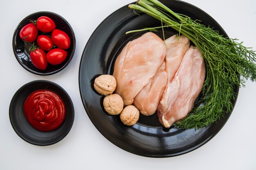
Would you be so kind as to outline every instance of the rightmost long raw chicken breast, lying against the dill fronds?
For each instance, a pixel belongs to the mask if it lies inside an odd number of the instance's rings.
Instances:
[[[173,80],[167,84],[157,108],[161,124],[168,128],[193,108],[204,83],[205,68],[200,50],[191,46]]]

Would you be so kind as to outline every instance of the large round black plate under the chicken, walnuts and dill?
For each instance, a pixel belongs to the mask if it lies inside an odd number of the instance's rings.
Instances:
[[[177,13],[201,20],[203,24],[214,27],[227,37],[225,31],[204,11],[186,2],[162,0]],[[94,79],[100,74],[112,74],[115,59],[128,41],[143,33],[126,35],[126,31],[161,26],[161,22],[138,12],[135,15],[124,6],[108,16],[91,35],[85,46],[79,68],[79,88],[81,99],[90,120],[99,132],[110,142],[130,153],[146,157],[173,157],[188,153],[202,146],[220,131],[230,113],[206,128],[199,130],[166,129],[162,127],[156,114],[140,115],[134,126],[124,126],[119,116],[110,116],[103,109],[103,96],[93,89]],[[161,29],[160,29],[161,30]],[[177,32],[165,29],[165,37]],[[162,32],[157,32],[162,37]],[[238,87],[235,87],[238,93]],[[233,101],[235,105],[236,99]]]

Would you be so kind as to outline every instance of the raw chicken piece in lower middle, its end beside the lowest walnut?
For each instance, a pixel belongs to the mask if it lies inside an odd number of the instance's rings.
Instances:
[[[162,63],[149,83],[135,96],[133,105],[145,116],[152,115],[157,110],[167,83],[165,62]]]

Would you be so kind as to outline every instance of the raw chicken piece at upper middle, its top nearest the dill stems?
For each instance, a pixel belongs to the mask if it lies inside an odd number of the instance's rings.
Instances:
[[[173,35],[165,40],[166,44],[166,57],[165,57],[165,71],[168,75],[168,82],[170,82],[178,68],[180,63],[189,49],[190,41],[184,35],[181,35],[179,40],[176,35]]]

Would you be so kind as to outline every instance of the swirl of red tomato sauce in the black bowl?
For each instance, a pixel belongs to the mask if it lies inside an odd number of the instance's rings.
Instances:
[[[64,122],[66,108],[58,94],[40,89],[32,92],[23,104],[27,121],[38,131],[52,131]]]

